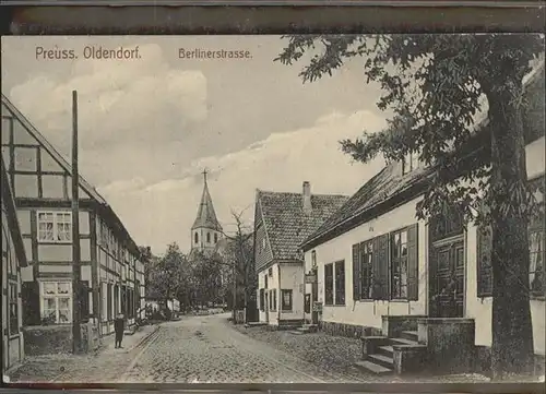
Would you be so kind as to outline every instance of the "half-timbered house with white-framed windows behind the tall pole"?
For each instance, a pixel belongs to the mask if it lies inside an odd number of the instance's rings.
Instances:
[[[72,321],[71,166],[2,95],[2,158],[13,186],[28,266],[22,270],[23,325]],[[82,322],[100,335],[144,306],[144,266],[126,227],[100,194],[79,179]]]

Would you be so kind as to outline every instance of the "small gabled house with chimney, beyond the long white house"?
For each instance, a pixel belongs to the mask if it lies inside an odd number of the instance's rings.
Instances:
[[[304,260],[298,244],[346,200],[344,195],[257,191],[254,263],[259,321],[301,324],[305,319]]]

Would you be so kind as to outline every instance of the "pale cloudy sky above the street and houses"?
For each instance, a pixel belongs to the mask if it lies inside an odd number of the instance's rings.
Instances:
[[[138,244],[188,251],[203,169],[226,231],[253,222],[256,190],[353,194],[384,163],[353,163],[339,141],[381,130],[379,87],[361,59],[304,84],[300,63],[273,59],[280,36],[2,37],[2,93],[66,157],[79,96],[81,175]],[[84,49],[139,48],[139,59],[85,59]],[[43,48],[43,49],[40,49]],[[187,59],[185,50],[248,50]],[[37,52],[73,50],[78,59]]]

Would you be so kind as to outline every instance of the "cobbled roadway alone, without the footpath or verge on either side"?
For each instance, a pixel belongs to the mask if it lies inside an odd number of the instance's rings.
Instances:
[[[135,356],[124,382],[324,382],[314,366],[236,331],[228,314],[163,324]]]

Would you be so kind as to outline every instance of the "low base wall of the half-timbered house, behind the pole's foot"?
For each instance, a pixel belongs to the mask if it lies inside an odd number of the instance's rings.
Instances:
[[[82,351],[98,348],[98,330],[93,324],[82,324]],[[23,329],[25,355],[40,356],[72,353],[72,325],[34,325]]]

